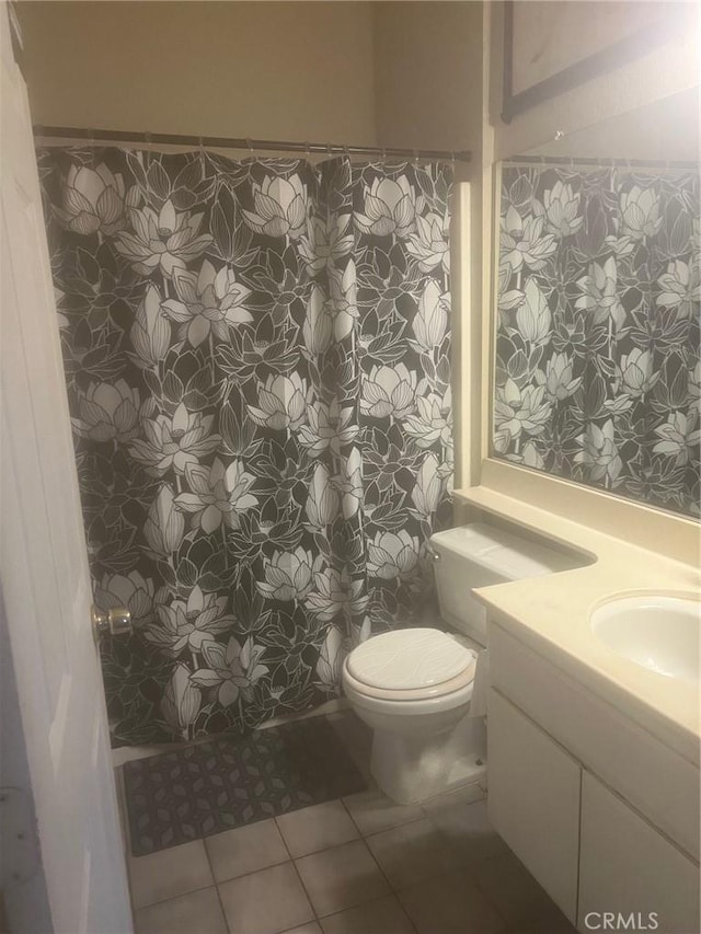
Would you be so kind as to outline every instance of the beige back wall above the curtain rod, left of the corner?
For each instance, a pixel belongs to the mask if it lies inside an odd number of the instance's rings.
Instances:
[[[35,123],[372,145],[372,4],[21,2]]]

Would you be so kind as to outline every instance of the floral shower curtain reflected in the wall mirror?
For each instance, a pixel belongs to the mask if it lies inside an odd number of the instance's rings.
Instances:
[[[498,458],[699,514],[699,168],[502,169]]]

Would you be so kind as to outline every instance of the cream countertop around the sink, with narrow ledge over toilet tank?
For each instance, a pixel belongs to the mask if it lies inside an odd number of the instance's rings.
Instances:
[[[618,655],[594,634],[588,619],[597,606],[617,597],[665,593],[698,600],[699,568],[486,487],[456,491],[456,497],[584,553],[590,563],[582,567],[482,587],[474,596],[516,638],[698,764],[698,687]]]

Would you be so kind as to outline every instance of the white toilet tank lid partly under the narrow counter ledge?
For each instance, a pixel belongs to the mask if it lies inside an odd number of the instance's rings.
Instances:
[[[469,558],[506,580],[541,577],[577,566],[571,554],[482,522],[436,532],[430,538],[430,545],[438,554],[449,553]]]

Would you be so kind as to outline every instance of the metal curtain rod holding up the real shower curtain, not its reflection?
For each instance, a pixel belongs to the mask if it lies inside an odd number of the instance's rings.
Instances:
[[[341,146],[327,142],[292,142],[280,139],[230,139],[217,136],[181,136],[170,132],[131,132],[115,129],[85,129],[84,127],[35,126],[34,135],[47,139],[87,139],[89,142],[146,142],[161,146],[193,146],[209,149],[266,149],[273,152],[322,152],[327,155],[400,155],[405,159],[438,159],[470,162],[472,153],[466,149],[398,149],[390,146]]]

